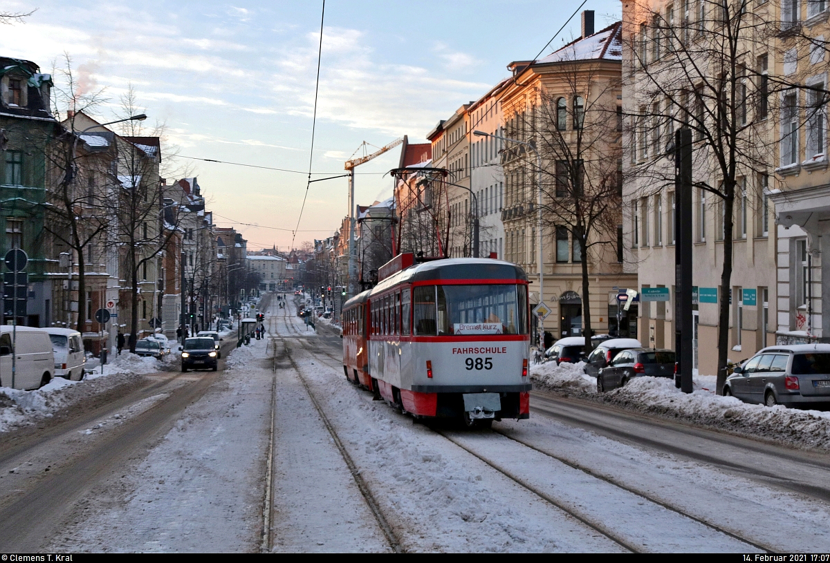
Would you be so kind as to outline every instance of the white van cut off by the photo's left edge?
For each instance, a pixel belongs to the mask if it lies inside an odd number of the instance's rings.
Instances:
[[[37,389],[51,381],[55,354],[43,328],[17,327],[15,338],[15,389]],[[12,327],[0,326],[0,386],[12,386]]]

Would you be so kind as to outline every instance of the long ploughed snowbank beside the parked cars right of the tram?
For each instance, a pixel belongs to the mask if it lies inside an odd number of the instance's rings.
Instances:
[[[648,415],[729,430],[801,449],[830,450],[830,412],[749,405],[735,397],[715,395],[715,376],[695,376],[694,391],[683,393],[665,377],[635,377],[626,386],[597,393],[596,378],[583,364],[553,362],[533,366],[530,377],[541,390],[593,400]]]

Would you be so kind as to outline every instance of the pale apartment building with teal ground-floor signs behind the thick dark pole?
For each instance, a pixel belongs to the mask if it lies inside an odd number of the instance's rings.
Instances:
[[[674,347],[676,198],[666,147],[685,127],[694,143],[693,365],[706,375],[718,369],[721,304],[729,359],[776,341],[769,309],[789,275],[777,268],[770,199],[784,180],[775,165],[781,104],[770,94],[781,60],[777,33],[759,22],[778,25],[781,11],[776,2],[623,2],[625,269],[638,274],[641,293],[662,288],[649,293],[668,299],[640,303],[639,332],[643,344]]]

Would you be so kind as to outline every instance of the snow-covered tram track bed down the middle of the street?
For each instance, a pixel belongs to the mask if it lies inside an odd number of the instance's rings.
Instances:
[[[496,423],[493,431],[415,424],[345,379],[333,328],[307,328],[293,303],[271,303],[266,313],[268,337],[234,350],[207,392],[145,454],[100,476],[43,549],[747,553],[830,546],[828,503],[774,479],[540,415]],[[147,400],[164,406],[167,399]],[[707,447],[705,436],[696,440],[696,448]]]

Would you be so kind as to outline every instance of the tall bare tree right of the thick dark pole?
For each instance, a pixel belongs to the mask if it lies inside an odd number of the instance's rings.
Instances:
[[[753,7],[764,12],[753,12]],[[775,162],[772,148],[777,144],[766,119],[773,96],[763,78],[767,69],[759,68],[762,54],[773,60],[764,14],[775,9],[774,2],[758,8],[749,0],[697,0],[653,11],[647,2],[634,2],[624,14],[623,39],[631,56],[623,66],[631,162],[627,179],[637,184],[640,197],[673,186],[666,145],[675,129],[691,129],[693,187],[716,201],[724,292],[731,287],[736,198],[756,201],[752,194],[763,189],[761,178],[768,177],[769,163]],[[727,375],[730,300],[722,295],[719,307],[720,394]]]

